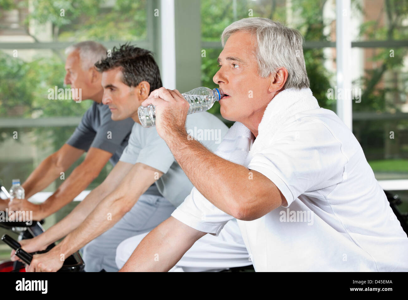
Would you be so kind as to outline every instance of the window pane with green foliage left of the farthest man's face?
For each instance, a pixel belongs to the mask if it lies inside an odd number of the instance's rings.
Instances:
[[[13,51],[17,51],[17,57]],[[69,86],[64,87],[63,50],[16,49],[0,53],[1,117],[82,116],[91,105],[91,101],[76,103]]]

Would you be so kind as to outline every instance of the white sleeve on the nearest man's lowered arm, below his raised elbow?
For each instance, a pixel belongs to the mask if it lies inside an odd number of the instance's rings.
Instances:
[[[180,222],[203,232],[218,236],[224,225],[234,217],[208,201],[195,187],[171,214]]]

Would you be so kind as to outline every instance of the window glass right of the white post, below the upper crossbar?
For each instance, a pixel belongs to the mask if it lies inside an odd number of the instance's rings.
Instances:
[[[353,101],[353,133],[377,179],[406,179],[408,47],[353,49],[361,62],[354,72],[361,100]]]

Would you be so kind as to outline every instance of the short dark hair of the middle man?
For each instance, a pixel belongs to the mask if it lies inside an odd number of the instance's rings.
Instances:
[[[103,72],[121,67],[124,84],[136,87],[140,82],[147,81],[150,84],[150,93],[163,86],[159,67],[151,51],[124,44],[120,45],[120,48],[113,47],[111,54],[111,57],[95,64],[98,71]]]

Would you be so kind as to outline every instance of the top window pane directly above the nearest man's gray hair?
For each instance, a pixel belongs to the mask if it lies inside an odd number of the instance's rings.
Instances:
[[[225,27],[248,17],[285,22],[299,29],[306,41],[335,41],[334,0],[202,0],[201,33],[203,41],[220,41]]]

